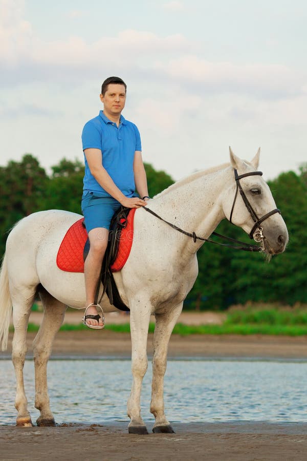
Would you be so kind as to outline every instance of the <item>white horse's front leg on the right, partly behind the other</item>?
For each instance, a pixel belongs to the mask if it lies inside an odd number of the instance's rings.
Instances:
[[[152,392],[150,411],[155,416],[156,422],[153,432],[174,432],[164,414],[163,385],[167,363],[167,349],[171,332],[182,311],[183,303],[169,312],[156,314],[156,327],[153,336],[152,358]]]

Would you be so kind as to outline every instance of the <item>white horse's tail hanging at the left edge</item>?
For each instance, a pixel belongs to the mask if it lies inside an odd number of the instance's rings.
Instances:
[[[0,270],[0,342],[2,350],[8,347],[9,326],[12,313],[12,299],[9,288],[9,276],[6,255],[3,257]]]

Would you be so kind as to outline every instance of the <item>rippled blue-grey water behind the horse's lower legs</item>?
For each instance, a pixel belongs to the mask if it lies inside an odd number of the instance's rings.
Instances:
[[[0,425],[15,424],[15,375],[0,361]],[[128,422],[130,361],[53,360],[48,364],[49,396],[57,423]],[[142,416],[149,412],[151,364],[142,390]],[[25,363],[25,388],[35,421],[34,367]],[[265,361],[169,361],[164,403],[171,422],[306,422],[307,363]]]

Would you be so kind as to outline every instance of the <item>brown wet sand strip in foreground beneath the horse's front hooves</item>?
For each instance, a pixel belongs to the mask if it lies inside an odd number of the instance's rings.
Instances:
[[[307,424],[176,424],[176,434],[127,434],[122,424],[0,427],[0,458],[29,460],[303,461]],[[148,426],[148,430],[151,428]]]

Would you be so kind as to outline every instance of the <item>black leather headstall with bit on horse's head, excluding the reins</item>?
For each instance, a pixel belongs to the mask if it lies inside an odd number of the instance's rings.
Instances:
[[[252,205],[248,201],[248,198],[245,195],[245,192],[244,192],[244,190],[243,190],[243,188],[242,188],[242,186],[240,184],[240,179],[246,178],[248,176],[255,176],[255,175],[262,176],[262,171],[253,171],[251,173],[245,173],[243,175],[238,175],[238,172],[236,171],[236,169],[234,169],[234,179],[236,181],[236,191],[235,191],[235,196],[234,196],[234,200],[233,200],[233,204],[232,204],[232,208],[231,208],[229,221],[232,223],[232,213],[233,213],[234,205],[235,205],[236,198],[237,198],[238,191],[239,191],[240,194],[241,194],[241,197],[242,197],[242,199],[243,199],[243,201],[245,203],[245,206],[247,207],[247,209],[249,211],[249,214],[251,215],[251,217],[252,217],[252,219],[253,219],[253,221],[255,223],[253,225],[253,227],[252,227],[251,232],[249,233],[249,237],[251,239],[254,238],[254,240],[256,242],[260,242],[260,241],[263,242],[264,235],[262,234],[263,229],[262,229],[262,227],[260,227],[261,222],[263,222],[265,219],[269,218],[270,216],[274,215],[275,213],[280,214],[280,210],[278,208],[272,209],[272,211],[270,211],[266,215],[262,216],[261,218],[258,218],[256,212],[254,211]],[[256,229],[258,229],[258,232],[256,232],[256,234],[254,235]]]

